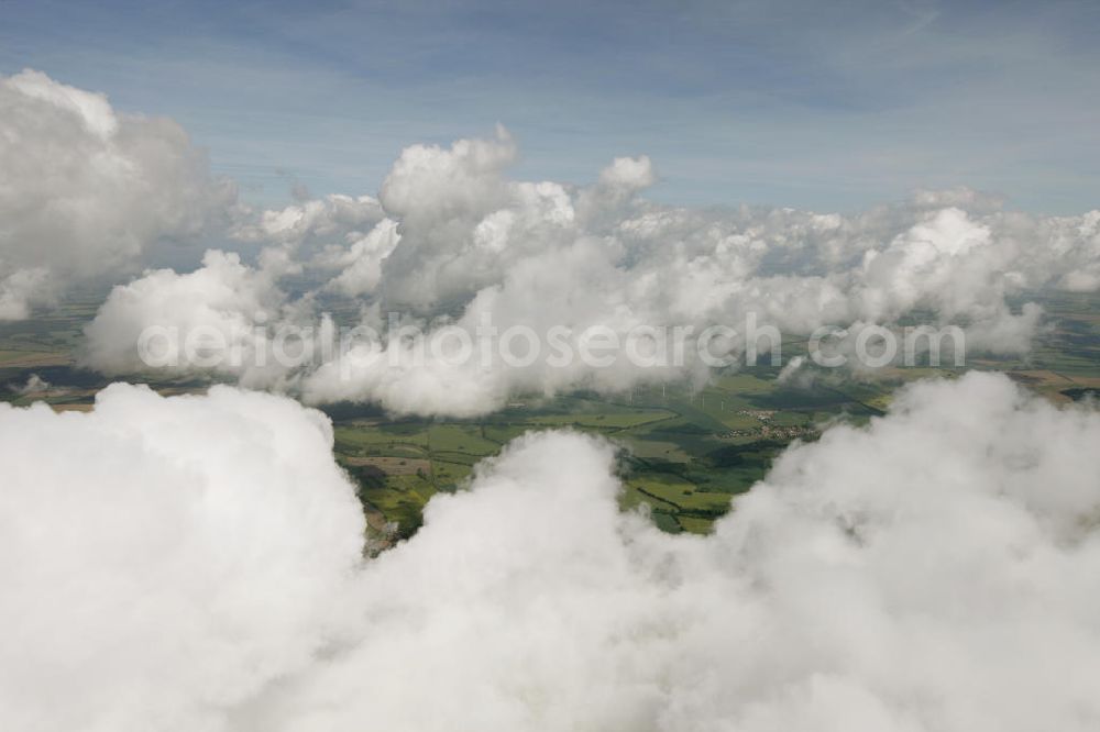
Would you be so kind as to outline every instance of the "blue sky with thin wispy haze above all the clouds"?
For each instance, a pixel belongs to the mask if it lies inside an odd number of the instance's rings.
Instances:
[[[166,114],[245,199],[373,193],[407,144],[492,134],[515,175],[648,154],[651,196],[850,211],[966,185],[1100,206],[1097,2],[0,0],[0,73]]]

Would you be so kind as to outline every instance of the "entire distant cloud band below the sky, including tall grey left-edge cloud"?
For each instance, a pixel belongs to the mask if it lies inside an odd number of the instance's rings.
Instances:
[[[562,367],[547,348],[520,365],[458,363],[454,339],[414,359],[402,343],[342,339],[316,303],[350,300],[343,312],[383,332],[396,322],[474,339],[492,321],[497,333],[532,329],[548,346],[559,329],[570,354],[593,332],[622,344],[645,329],[688,326],[698,337],[718,326],[719,350],[736,357],[759,345],[750,319],[805,336],[917,313],[964,329],[970,351],[1023,353],[1043,313],[1010,307],[1012,296],[1100,287],[1100,212],[1028,215],[965,189],[853,215],[669,207],[642,198],[658,179],[644,155],[614,158],[585,187],[510,179],[517,146],[498,127],[487,140],[406,148],[377,198],[255,212],[210,178],[169,120],[119,113],[36,71],[0,79],[0,167],[11,174],[0,185],[0,319],[25,318],[76,282],[118,278],[158,242],[205,232],[262,248],[254,264],[211,252],[196,271],[151,270],[116,289],[81,356],[107,374],[212,373],[310,401],[470,415],[520,391],[703,379],[707,359],[638,368],[620,353],[607,367]],[[304,277],[285,287],[290,275]],[[306,358],[271,356],[304,326]],[[156,364],[140,351],[151,331],[176,340]],[[211,334],[231,357],[183,347]]]

